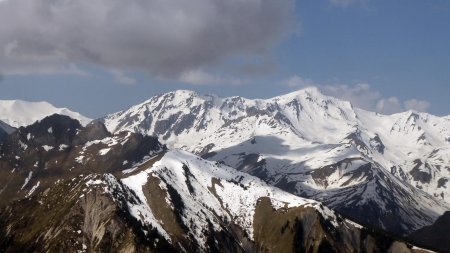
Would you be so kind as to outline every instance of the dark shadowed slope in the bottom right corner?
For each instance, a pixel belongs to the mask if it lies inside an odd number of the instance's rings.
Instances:
[[[422,247],[450,252],[450,212],[445,212],[433,225],[415,231],[409,238]]]

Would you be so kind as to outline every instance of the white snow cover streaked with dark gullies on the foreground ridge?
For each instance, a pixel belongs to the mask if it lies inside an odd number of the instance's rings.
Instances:
[[[150,222],[164,235],[162,229],[148,206],[143,193],[143,186],[148,178],[160,181],[162,189],[172,187],[184,203],[183,222],[191,229],[189,232],[199,240],[200,245],[206,243],[203,229],[212,223],[220,230],[221,220],[234,221],[254,240],[253,219],[258,200],[270,198],[275,209],[292,207],[314,207],[338,226],[337,218],[328,208],[321,207],[319,202],[297,197],[268,186],[260,179],[246,173],[238,172],[219,163],[203,160],[187,152],[169,151],[152,167],[135,175],[125,177],[122,182],[133,189],[143,205],[132,206],[133,214],[142,222]],[[175,202],[166,199],[169,205]],[[220,219],[217,216],[221,217]],[[169,239],[169,238],[168,238]]]

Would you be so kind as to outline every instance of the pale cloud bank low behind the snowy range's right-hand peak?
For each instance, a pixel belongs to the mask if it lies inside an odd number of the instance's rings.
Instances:
[[[292,88],[316,86],[325,95],[350,101],[358,108],[382,114],[398,113],[405,110],[426,112],[430,107],[430,103],[424,100],[410,99],[402,102],[397,97],[383,97],[379,91],[372,89],[370,84],[367,83],[321,85],[311,79],[295,75],[282,81],[281,84]]]

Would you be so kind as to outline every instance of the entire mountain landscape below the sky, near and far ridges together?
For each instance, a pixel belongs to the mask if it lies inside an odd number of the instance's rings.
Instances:
[[[423,239],[450,210],[450,117],[381,115],[316,88],[180,90],[89,124],[52,110],[0,108],[6,252],[450,248]]]

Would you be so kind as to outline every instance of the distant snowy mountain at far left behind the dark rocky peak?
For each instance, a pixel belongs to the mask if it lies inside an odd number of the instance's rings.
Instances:
[[[31,125],[52,114],[69,116],[87,125],[91,119],[70,111],[67,108],[56,108],[48,102],[27,102],[22,100],[0,100],[0,120],[12,127]]]

